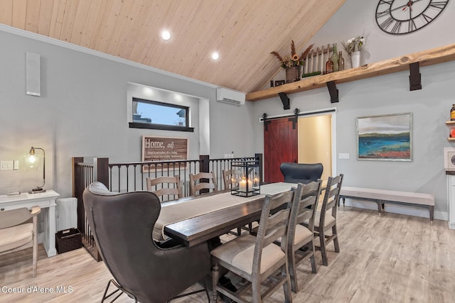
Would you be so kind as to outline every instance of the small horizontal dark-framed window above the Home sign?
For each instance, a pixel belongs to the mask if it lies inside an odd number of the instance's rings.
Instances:
[[[133,97],[130,128],[152,128],[168,131],[193,131],[189,126],[189,107]]]

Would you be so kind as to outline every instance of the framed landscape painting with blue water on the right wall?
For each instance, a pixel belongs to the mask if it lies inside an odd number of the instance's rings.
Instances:
[[[357,159],[412,161],[412,113],[357,118]]]

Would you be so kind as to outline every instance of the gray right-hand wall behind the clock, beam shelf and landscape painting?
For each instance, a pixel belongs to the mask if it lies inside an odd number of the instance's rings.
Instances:
[[[410,35],[387,35],[375,23],[378,1],[348,0],[323,26],[310,43],[315,46],[338,43],[355,35],[367,36],[363,63],[387,60],[420,50],[455,43],[451,32],[454,26],[455,4],[434,23]],[[347,22],[349,21],[349,22]],[[341,26],[343,25],[343,26]],[[344,52],[343,52],[344,53]],[[345,59],[346,55],[345,55]],[[271,58],[272,60],[272,58]],[[344,184],[355,187],[373,187],[434,194],[435,217],[447,218],[446,177],[443,148],[453,144],[447,141],[451,104],[455,103],[455,62],[423,67],[422,90],[410,92],[409,72],[373,77],[338,84],[339,103],[331,104],[326,88],[289,94],[291,109],[284,111],[278,97],[255,102],[255,152],[263,150],[263,128],[258,123],[265,112],[269,116],[288,113],[295,108],[301,111],[325,109],[335,106],[336,150],[349,153],[349,160],[337,159],[337,172],[345,174]],[[278,78],[276,78],[278,79]],[[385,162],[356,160],[355,121],[358,116],[412,112],[414,159],[412,162]],[[338,158],[338,155],[337,155]],[[375,208],[373,205],[366,205]],[[387,207],[387,206],[386,206]],[[428,211],[395,208],[397,212],[428,216]]]

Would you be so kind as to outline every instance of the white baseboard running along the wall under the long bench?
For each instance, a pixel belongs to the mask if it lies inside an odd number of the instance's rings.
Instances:
[[[343,204],[343,200],[341,199],[340,205]],[[372,209],[378,211],[378,204],[375,202],[366,202],[366,201],[358,201],[346,198],[346,206],[357,207],[359,209]],[[423,207],[418,206],[404,206],[398,204],[387,204],[384,205],[384,211],[390,212],[393,214],[406,214],[409,216],[422,216],[424,218],[429,218],[429,211],[428,209],[424,209]],[[434,211],[434,219],[448,221],[449,220],[449,213],[444,211]],[[455,227],[455,226],[454,226]]]

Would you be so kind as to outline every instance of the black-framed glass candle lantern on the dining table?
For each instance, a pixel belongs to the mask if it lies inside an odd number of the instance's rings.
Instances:
[[[231,166],[233,170],[242,172],[237,186],[231,187],[231,194],[240,197],[251,197],[261,193],[259,160],[232,161]]]

